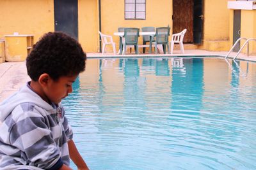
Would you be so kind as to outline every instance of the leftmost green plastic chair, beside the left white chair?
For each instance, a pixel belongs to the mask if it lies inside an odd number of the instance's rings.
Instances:
[[[139,53],[139,50],[138,50],[138,38],[140,36],[139,32],[140,32],[140,29],[138,29],[138,28],[125,28],[124,29],[125,41],[124,41],[123,54],[125,54],[127,45],[129,45],[129,46],[134,45],[136,54]]]

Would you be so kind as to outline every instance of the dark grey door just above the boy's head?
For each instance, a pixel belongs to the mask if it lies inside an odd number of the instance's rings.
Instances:
[[[54,0],[55,31],[78,38],[77,0]]]

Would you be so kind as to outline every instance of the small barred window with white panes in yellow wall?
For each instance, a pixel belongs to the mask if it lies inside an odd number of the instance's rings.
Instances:
[[[125,20],[145,20],[146,0],[125,0]]]

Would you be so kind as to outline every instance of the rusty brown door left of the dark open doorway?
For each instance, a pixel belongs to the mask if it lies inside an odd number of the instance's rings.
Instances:
[[[173,0],[173,34],[187,29],[184,43],[193,43],[194,0]]]

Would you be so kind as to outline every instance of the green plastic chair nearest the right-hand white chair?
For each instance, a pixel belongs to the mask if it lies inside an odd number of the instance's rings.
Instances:
[[[166,53],[166,46],[168,48],[168,52],[170,53],[169,48],[169,36],[170,36],[170,27],[158,27],[156,28],[156,35],[154,38],[156,38],[155,41],[155,52],[157,53],[157,45],[163,45],[164,53]],[[150,39],[152,39],[152,36],[150,36]],[[150,53],[152,48],[152,41],[150,41]]]

